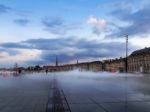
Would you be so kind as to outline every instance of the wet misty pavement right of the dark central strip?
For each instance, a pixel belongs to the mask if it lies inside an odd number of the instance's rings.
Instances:
[[[150,111],[149,75],[75,71],[56,76],[76,112],[88,111],[86,104],[97,105],[94,111]]]

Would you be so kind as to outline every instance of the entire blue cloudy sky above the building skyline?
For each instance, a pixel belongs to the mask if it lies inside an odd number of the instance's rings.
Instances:
[[[150,47],[149,0],[0,0],[0,68],[125,57]]]

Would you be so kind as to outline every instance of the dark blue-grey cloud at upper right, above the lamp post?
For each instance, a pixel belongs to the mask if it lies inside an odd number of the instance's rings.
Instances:
[[[120,27],[117,32],[113,32],[109,37],[122,37],[127,34],[140,36],[150,33],[150,5],[136,12],[127,9],[118,9],[111,14],[123,22],[128,22],[129,25]]]

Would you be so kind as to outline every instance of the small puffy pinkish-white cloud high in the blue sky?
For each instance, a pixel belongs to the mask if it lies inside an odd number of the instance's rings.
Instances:
[[[93,33],[99,35],[102,28],[106,26],[106,20],[98,19],[94,16],[91,16],[87,19],[87,23],[93,25]]]

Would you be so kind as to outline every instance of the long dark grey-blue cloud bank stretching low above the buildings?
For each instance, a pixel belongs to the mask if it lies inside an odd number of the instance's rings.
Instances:
[[[67,62],[75,59],[120,57],[125,54],[125,43],[76,40],[75,37],[30,39],[20,43],[4,43],[0,47],[41,50],[40,60],[33,60],[40,64],[54,62],[56,56],[60,62]],[[134,47],[130,45],[130,48]]]

